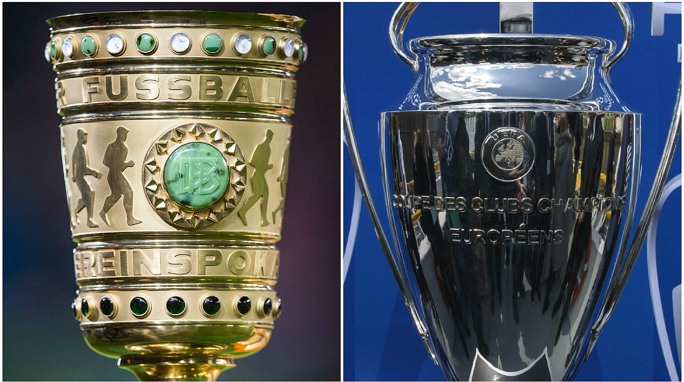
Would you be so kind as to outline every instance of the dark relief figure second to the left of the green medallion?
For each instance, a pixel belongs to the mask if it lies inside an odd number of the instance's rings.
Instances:
[[[76,203],[74,213],[76,215],[76,223],[79,224],[79,212],[86,208],[88,212],[88,227],[96,228],[97,224],[92,221],[92,203],[95,199],[95,191],[92,191],[90,183],[86,180],[86,175],[100,178],[102,174],[94,169],[88,167],[88,152],[86,151],[86,142],[88,141],[88,133],[85,131],[77,131],[77,142],[74,148],[74,154],[71,156],[71,165],[73,167],[73,176],[71,180],[76,183],[81,192],[81,199]]]

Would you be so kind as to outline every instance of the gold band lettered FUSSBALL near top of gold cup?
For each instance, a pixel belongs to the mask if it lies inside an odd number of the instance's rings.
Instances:
[[[103,104],[126,107],[131,104],[155,107],[163,103],[181,103],[197,107],[210,105],[248,104],[287,109],[295,103],[295,81],[272,77],[213,74],[114,74],[61,79],[55,82],[58,109]]]

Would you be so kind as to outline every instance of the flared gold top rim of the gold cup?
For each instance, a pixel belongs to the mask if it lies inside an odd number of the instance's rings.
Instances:
[[[267,27],[299,32],[304,18],[255,12],[144,10],[89,12],[56,16],[45,21],[53,33],[78,29],[122,27]]]

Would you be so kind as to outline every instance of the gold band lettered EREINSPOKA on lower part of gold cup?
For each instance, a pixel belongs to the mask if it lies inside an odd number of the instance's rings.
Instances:
[[[126,248],[77,250],[74,270],[79,284],[162,278],[221,277],[226,282],[275,284],[280,252],[249,248]]]

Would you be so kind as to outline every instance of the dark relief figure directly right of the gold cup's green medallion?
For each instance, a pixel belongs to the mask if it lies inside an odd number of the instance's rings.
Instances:
[[[268,210],[268,183],[266,182],[266,172],[273,168],[273,163],[268,163],[271,156],[271,139],[273,138],[273,131],[266,131],[266,138],[257,148],[254,149],[250,165],[254,167],[254,174],[252,175],[252,195],[247,202],[237,213],[237,216],[247,226],[245,214],[254,206],[255,203],[261,200],[261,226],[268,226],[268,219],[266,213]]]

